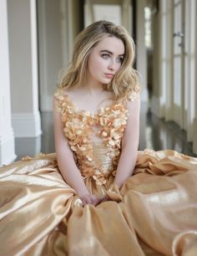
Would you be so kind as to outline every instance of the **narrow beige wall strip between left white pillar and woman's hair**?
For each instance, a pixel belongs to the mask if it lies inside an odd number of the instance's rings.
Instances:
[[[62,17],[60,0],[38,1],[38,53],[40,110],[53,109],[58,72],[63,68]]]

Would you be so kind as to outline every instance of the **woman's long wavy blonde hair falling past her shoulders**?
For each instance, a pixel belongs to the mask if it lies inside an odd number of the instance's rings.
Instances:
[[[72,64],[68,71],[63,69],[58,87],[66,89],[83,84],[88,69],[88,58],[93,47],[107,37],[115,37],[124,43],[124,59],[114,78],[107,84],[107,90],[114,91],[118,99],[126,98],[133,91],[139,91],[137,71],[134,63],[134,40],[122,26],[108,21],[98,21],[83,29],[75,39]]]

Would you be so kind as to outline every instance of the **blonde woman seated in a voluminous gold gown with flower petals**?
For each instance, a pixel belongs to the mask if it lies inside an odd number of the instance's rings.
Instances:
[[[2,255],[196,254],[197,159],[138,151],[133,60],[114,23],[78,35],[53,100],[57,155],[1,168]]]

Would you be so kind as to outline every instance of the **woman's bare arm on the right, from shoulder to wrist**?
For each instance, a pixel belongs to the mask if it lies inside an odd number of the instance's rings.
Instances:
[[[122,141],[122,151],[119,157],[119,165],[116,172],[114,183],[122,187],[126,179],[132,176],[137,160],[139,147],[139,111],[140,98],[129,101],[129,119],[124,131]]]

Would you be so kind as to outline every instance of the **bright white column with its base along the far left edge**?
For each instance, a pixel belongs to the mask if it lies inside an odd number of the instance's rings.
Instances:
[[[11,125],[7,0],[0,0],[0,166],[16,158]]]

